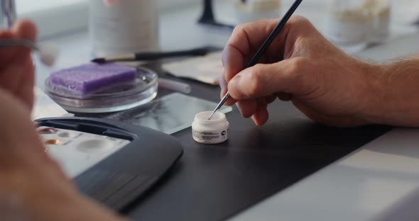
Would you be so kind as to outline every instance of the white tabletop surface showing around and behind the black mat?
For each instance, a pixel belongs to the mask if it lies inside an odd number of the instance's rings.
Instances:
[[[324,30],[326,2],[303,1],[296,13],[310,18],[317,28]],[[419,35],[405,36],[415,33],[415,28],[408,23],[415,18],[412,8],[419,8],[415,7],[418,2],[398,1],[393,8],[396,16],[391,23],[391,43],[373,47],[358,56],[383,61],[419,52]],[[288,7],[291,0],[283,3]],[[192,4],[161,15],[160,48],[223,47],[231,31],[197,25],[200,12],[200,7]],[[219,1],[216,12],[220,21],[234,23],[229,1]],[[53,68],[38,65],[36,84],[41,89],[54,69],[82,64],[91,58],[87,31],[52,40],[60,46],[61,54]],[[393,130],[232,220],[370,220],[419,188],[417,144],[419,130]]]

